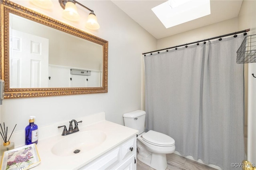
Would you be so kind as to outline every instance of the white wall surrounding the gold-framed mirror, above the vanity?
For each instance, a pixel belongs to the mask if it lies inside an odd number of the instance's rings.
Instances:
[[[28,1],[14,2],[33,7]],[[1,123],[5,122],[10,128],[17,123],[16,132],[24,130],[30,115],[36,116],[35,123],[39,129],[54,122],[76,119],[101,111],[106,113],[106,120],[123,125],[123,113],[142,107],[141,54],[156,49],[156,39],[109,0],[80,2],[93,9],[98,18],[100,29],[91,32],[109,43],[108,93],[5,99],[0,107]],[[54,9],[41,11],[52,18],[63,20],[57,13],[61,10],[58,1],[54,0]],[[83,27],[81,23],[72,24],[78,28]]]

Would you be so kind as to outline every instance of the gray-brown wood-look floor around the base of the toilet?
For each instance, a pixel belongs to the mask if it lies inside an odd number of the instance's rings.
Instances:
[[[167,154],[166,158],[168,164],[166,170],[216,170],[177,154]],[[137,170],[154,170],[154,168],[143,164],[137,159]]]

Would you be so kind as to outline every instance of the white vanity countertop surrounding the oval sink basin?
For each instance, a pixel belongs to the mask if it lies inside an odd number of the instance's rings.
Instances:
[[[62,140],[65,137],[72,136],[73,134],[69,134],[67,136],[61,136],[61,134],[59,134],[57,136],[52,136],[50,138],[40,140],[38,141],[36,147],[38,149],[38,154],[40,156],[41,162],[38,166],[32,169],[71,170],[81,168],[82,166],[88,164],[102,154],[108,152],[112,148],[118,146],[128,138],[136,135],[136,133],[138,132],[137,130],[134,130],[132,128],[124,127],[122,125],[118,125],[116,123],[112,123],[106,120],[99,121],[91,125],[86,125],[84,127],[79,127],[79,129],[80,131],[75,132],[74,134],[78,134],[82,131],[102,131],[106,134],[106,140],[104,140],[104,142],[96,148],[88,150],[87,152],[82,152],[81,150],[81,152],[72,156],[57,156],[52,153],[51,149],[57,141]],[[74,143],[74,145],[76,145],[76,143]]]

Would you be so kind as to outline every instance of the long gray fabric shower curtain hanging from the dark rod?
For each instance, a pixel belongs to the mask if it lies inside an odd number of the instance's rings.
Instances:
[[[223,170],[244,154],[244,36],[146,55],[146,130],[174,138],[176,151]],[[241,169],[238,167],[238,169]]]

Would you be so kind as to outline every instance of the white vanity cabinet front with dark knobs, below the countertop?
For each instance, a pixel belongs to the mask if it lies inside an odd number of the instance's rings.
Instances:
[[[127,139],[80,170],[136,170],[136,139]]]

